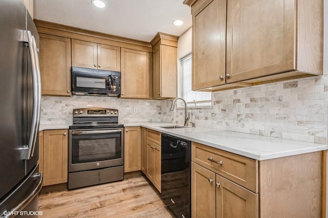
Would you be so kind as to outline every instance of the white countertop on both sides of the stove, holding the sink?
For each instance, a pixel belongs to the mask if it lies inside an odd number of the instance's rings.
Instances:
[[[260,161],[328,149],[328,145],[237,133],[206,127],[167,129],[160,126],[171,126],[175,124],[163,122],[125,122],[123,124],[125,127],[142,126],[150,128],[161,133],[198,142]],[[70,125],[71,124],[41,124],[39,130],[68,129]]]

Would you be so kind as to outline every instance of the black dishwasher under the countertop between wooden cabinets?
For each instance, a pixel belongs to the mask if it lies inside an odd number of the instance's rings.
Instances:
[[[177,217],[190,215],[191,142],[162,134],[161,197]]]

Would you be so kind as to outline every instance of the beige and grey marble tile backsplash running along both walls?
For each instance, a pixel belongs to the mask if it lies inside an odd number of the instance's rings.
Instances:
[[[236,104],[242,113],[236,113]],[[72,123],[73,108],[119,110],[119,122],[165,121],[183,124],[185,111],[170,111],[171,100],[129,100],[113,97],[43,97],[41,124]],[[212,94],[212,107],[189,108],[190,121],[263,136],[327,143],[328,75]]]

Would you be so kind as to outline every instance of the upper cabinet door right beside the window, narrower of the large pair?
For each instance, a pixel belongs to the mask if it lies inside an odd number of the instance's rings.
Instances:
[[[226,76],[226,0],[202,2],[193,12],[192,90],[224,84]]]

